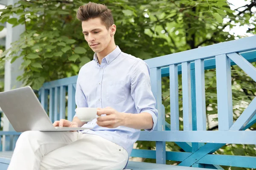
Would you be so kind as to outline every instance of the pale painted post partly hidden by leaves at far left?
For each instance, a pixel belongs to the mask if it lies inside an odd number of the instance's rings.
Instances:
[[[8,0],[7,5],[14,5],[18,0]],[[16,16],[13,16],[16,17]],[[6,23],[7,34],[6,34],[6,49],[11,48],[11,43],[17,41],[20,38],[20,34],[25,31],[24,25],[19,25],[12,28],[12,24]],[[16,79],[18,76],[23,74],[23,70],[20,70],[20,64],[23,62],[23,59],[19,58],[11,64],[10,61],[5,63],[5,72],[4,72],[4,91],[9,91],[13,88],[21,87],[22,83],[18,82]],[[9,120],[5,115],[3,115],[3,130],[12,131],[14,130]],[[5,138],[3,138],[5,141]],[[5,149],[5,143],[3,142],[3,150]]]

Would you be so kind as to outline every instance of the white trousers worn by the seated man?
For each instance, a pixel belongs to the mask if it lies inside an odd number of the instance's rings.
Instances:
[[[127,160],[123,147],[97,135],[26,131],[8,170],[122,170]]]

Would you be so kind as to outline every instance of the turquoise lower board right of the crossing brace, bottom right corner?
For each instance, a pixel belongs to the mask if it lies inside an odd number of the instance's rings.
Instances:
[[[219,164],[232,167],[256,168],[256,157],[208,154],[201,158],[198,163]]]

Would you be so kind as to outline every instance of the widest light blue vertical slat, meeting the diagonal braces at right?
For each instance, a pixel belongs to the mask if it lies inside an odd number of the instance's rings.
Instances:
[[[233,103],[230,58],[225,54],[216,56],[216,79],[218,130],[229,130],[233,125]]]

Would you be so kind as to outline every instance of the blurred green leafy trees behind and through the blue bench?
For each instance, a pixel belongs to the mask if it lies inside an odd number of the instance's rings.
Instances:
[[[240,1],[240,0],[239,0]],[[117,27],[116,45],[125,53],[141,59],[200,48],[219,42],[256,34],[256,0],[241,0],[244,6],[234,8],[227,0],[93,0],[113,11]],[[0,55],[0,91],[3,91],[4,62],[23,58],[17,77],[23,85],[39,89],[44,82],[77,75],[82,65],[93,59],[76,19],[79,6],[87,0],[20,0],[15,6],[0,10],[1,23],[24,24],[20,40]],[[233,1],[235,2],[235,1]],[[240,7],[240,8],[239,8]],[[19,19],[12,18],[16,14]],[[254,22],[253,22],[254,21]],[[245,26],[247,33],[230,30]],[[3,26],[0,26],[0,30]],[[21,52],[20,52],[21,51]],[[10,53],[7,57],[7,53]],[[256,63],[253,63],[256,66]],[[180,118],[182,118],[182,87],[179,77]],[[205,71],[207,130],[218,130],[215,69]],[[256,83],[239,67],[232,66],[234,121],[256,96]],[[163,105],[170,122],[169,77],[162,79]],[[180,130],[183,129],[180,119]],[[256,125],[250,127],[255,130]],[[140,142],[137,148],[155,149],[154,142]],[[166,142],[166,150],[183,151],[174,142]],[[256,156],[255,145],[227,144],[215,154]],[[140,161],[155,162],[154,159]],[[178,164],[167,161],[167,164]],[[226,167],[224,169],[246,169]]]

